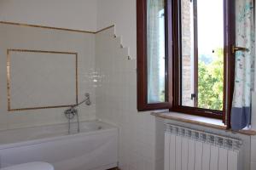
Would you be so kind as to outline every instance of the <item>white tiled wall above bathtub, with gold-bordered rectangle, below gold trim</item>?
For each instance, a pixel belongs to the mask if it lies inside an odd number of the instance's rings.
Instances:
[[[1,48],[0,48],[0,130],[3,129],[13,129],[13,128],[21,128],[21,127],[33,127],[33,126],[41,126],[47,124],[55,124],[67,122],[67,118],[64,116],[64,111],[67,108],[55,108],[55,109],[42,109],[42,110],[31,110],[31,111],[8,111],[7,108],[7,49],[15,48],[15,49],[34,49],[34,50],[44,50],[44,51],[60,51],[60,52],[76,52],[78,53],[78,91],[79,91],[79,101],[84,99],[85,93],[91,94],[91,103],[92,105],[81,105],[79,107],[79,117],[80,120],[89,120],[96,118],[96,108],[95,108],[95,88],[93,86],[93,81],[91,80],[90,74],[94,71],[94,63],[95,63],[95,35],[88,33],[80,33],[73,31],[59,31],[59,30],[49,30],[49,29],[41,29],[35,27],[26,27],[26,26],[10,26],[0,24],[0,37],[1,37]],[[39,53],[40,54],[40,53]],[[75,65],[74,60],[73,64],[66,62],[60,63],[59,59],[56,58],[53,54],[50,56],[51,60],[45,60],[46,62],[41,62],[41,65],[51,65],[53,63],[59,63],[59,65],[55,65],[55,70],[48,73],[44,70],[44,74],[42,71],[38,71],[35,68],[35,65],[42,61],[42,59],[34,60],[32,63],[32,59],[27,59],[26,63],[24,63],[24,67],[20,68],[20,65],[15,65],[16,57],[22,57],[22,55],[13,55],[11,54],[10,65],[12,65],[10,70],[10,89],[11,89],[11,105],[13,107],[19,107],[14,104],[15,99],[22,99],[22,108],[29,107],[28,105],[32,105],[32,107],[39,106],[49,106],[44,103],[49,99],[47,96],[47,92],[44,93],[43,89],[46,88],[38,88],[38,87],[30,87],[25,90],[27,95],[20,94],[20,90],[23,85],[26,84],[26,79],[28,81],[33,81],[34,77],[40,77],[38,82],[39,86],[47,86],[50,83],[55,83],[58,85],[58,88],[61,88],[61,91],[66,92],[66,94],[75,95],[75,76],[73,74],[72,77],[68,77],[69,70],[66,68],[62,68],[65,65]],[[24,57],[25,56],[25,57]],[[26,59],[26,55],[24,55],[22,59]],[[32,55],[30,55],[32,56]],[[42,54],[40,56],[43,56]],[[72,55],[69,55],[72,56]],[[37,54],[33,54],[33,57],[38,57]],[[45,56],[44,56],[45,57]],[[45,59],[47,59],[46,56]],[[74,57],[74,56],[73,56]],[[48,59],[50,59],[48,58]],[[49,63],[49,64],[48,64]],[[16,72],[15,67],[21,69],[23,71]],[[58,68],[59,67],[59,68]],[[46,68],[46,66],[45,66]],[[61,69],[60,69],[61,68]],[[75,70],[75,66],[71,67]],[[31,70],[32,69],[32,70]],[[73,71],[74,71],[73,70]],[[22,75],[26,74],[25,72],[30,71],[27,77],[20,79]],[[55,73],[56,71],[56,73]],[[59,73],[57,73],[59,72]],[[55,82],[54,80],[49,80],[44,77],[48,77],[47,74],[55,74],[60,77],[60,82]],[[73,83],[73,86],[70,88],[64,88],[61,83],[62,79],[69,78],[69,81]],[[43,79],[43,80],[42,80]],[[14,84],[15,83],[15,84]],[[16,87],[16,88],[15,88]],[[70,89],[72,91],[68,92]],[[29,93],[33,90],[41,90],[38,93],[38,100],[33,101],[33,94],[37,93]],[[48,93],[54,93],[52,91],[48,91]],[[58,105],[60,101],[70,101],[70,103],[66,103],[64,105],[73,105],[75,100],[70,100],[70,96],[68,95],[58,95],[55,96],[55,100],[52,100],[52,105]],[[53,99],[53,98],[52,98]],[[72,98],[73,99],[73,98]],[[38,102],[38,103],[35,103]],[[43,103],[42,103],[43,102]],[[19,102],[20,103],[20,102]],[[46,102],[47,103],[47,102]],[[17,108],[15,108],[17,109]]]

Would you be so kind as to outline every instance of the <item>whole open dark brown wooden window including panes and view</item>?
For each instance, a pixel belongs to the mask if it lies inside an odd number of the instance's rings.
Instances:
[[[170,109],[228,121],[234,4],[137,0],[138,111]]]

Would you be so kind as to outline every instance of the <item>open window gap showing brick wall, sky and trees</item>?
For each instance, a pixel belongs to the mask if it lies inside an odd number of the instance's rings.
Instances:
[[[223,110],[224,2],[182,0],[182,105]]]

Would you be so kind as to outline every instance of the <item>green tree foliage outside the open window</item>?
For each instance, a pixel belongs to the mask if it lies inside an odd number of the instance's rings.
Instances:
[[[224,50],[217,50],[210,64],[198,63],[198,107],[223,110]]]

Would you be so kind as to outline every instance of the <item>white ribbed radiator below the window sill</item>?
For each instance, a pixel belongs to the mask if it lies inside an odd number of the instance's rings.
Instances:
[[[166,123],[165,170],[238,170],[241,140]]]

